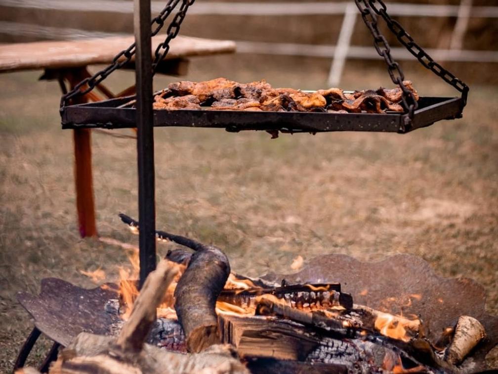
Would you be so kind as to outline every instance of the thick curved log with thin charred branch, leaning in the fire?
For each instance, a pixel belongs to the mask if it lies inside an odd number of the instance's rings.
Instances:
[[[120,214],[123,222],[139,228],[139,223]],[[223,251],[215,246],[156,231],[161,239],[174,241],[195,251],[175,289],[175,310],[185,333],[187,350],[201,352],[220,344],[220,331],[215,311],[216,300],[230,274],[230,264]]]

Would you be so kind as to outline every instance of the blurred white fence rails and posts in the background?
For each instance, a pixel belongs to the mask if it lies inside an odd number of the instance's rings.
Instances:
[[[133,2],[130,0],[0,0],[1,6],[52,9],[65,11],[100,11],[113,13],[131,13]],[[159,12],[164,1],[152,1],[152,12]],[[461,0],[460,5],[435,5],[415,3],[390,3],[388,11],[394,16],[418,17],[456,17],[457,21],[452,34],[450,49],[427,49],[436,60],[465,62],[498,62],[498,51],[462,50],[462,41],[469,19],[471,17],[498,18],[498,6],[473,6],[472,0]],[[216,2],[198,1],[189,9],[189,14],[198,15],[260,15],[288,16],[313,14],[344,14],[337,45],[312,45],[294,43],[265,43],[238,41],[239,53],[263,53],[276,55],[297,55],[332,58],[329,73],[329,83],[337,86],[348,58],[378,59],[380,58],[372,47],[352,46],[358,9],[351,1],[327,2]],[[38,26],[33,24],[0,21],[0,32],[18,35],[44,35],[46,38],[58,39],[81,38],[110,35],[93,31],[69,28]],[[230,37],[230,35],[227,35]],[[392,48],[396,59],[413,59],[413,56],[403,48]]]

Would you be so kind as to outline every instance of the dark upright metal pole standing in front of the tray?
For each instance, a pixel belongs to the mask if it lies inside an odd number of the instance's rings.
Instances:
[[[134,0],[140,287],[156,266],[150,0]]]

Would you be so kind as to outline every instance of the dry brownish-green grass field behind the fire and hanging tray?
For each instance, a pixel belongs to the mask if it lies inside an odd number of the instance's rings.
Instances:
[[[187,78],[325,86],[327,61],[261,61],[199,58]],[[18,291],[36,293],[44,277],[90,287],[80,270],[102,267],[113,280],[126,263],[121,248],[78,235],[72,134],[60,130],[58,85],[36,82],[38,75],[0,75],[0,372],[11,369],[32,326],[15,301]],[[427,74],[407,76],[421,94],[453,94]],[[156,86],[174,79],[162,77]],[[119,72],[110,86],[132,80]],[[353,66],[342,87],[380,84],[390,86],[384,70]],[[158,129],[157,225],[225,248],[233,269],[248,275],[288,272],[297,254],[415,254],[439,274],[483,284],[487,308],[498,314],[497,95],[497,86],[474,85],[464,119],[407,135],[270,140],[266,133]],[[137,215],[135,143],[94,133],[93,154],[99,232],[136,243],[117,217]],[[158,245],[160,253],[169,248]]]

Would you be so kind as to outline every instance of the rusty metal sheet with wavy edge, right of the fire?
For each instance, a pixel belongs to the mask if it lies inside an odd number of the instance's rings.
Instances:
[[[498,344],[498,317],[486,313],[486,293],[468,278],[444,278],[422,258],[399,254],[378,262],[362,262],[344,254],[310,260],[295,274],[267,274],[268,281],[289,283],[340,282],[356,304],[405,316],[419,316],[429,328],[428,337],[439,337],[462,315],[477,318],[488,338],[471,360],[484,369],[486,354]]]

